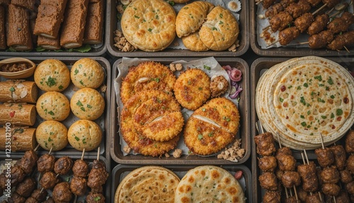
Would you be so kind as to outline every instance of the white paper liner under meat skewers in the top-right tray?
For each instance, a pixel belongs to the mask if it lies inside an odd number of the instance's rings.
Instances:
[[[350,0],[343,0],[341,1],[342,3],[347,2],[348,4],[350,3]],[[322,4],[319,4],[316,8],[319,8],[320,6],[322,6]],[[265,11],[267,11],[266,9],[263,9],[263,4],[258,4],[258,8],[257,8],[257,13],[256,13],[256,22],[257,22],[257,42],[258,45],[261,46],[262,49],[268,49],[268,48],[278,48],[278,47],[282,47],[282,45],[280,45],[280,43],[275,43],[274,45],[271,45],[269,47],[268,44],[273,43],[272,42],[266,42],[263,38],[261,38],[261,33],[263,33],[263,28],[265,28],[266,26],[269,26],[269,19],[268,18],[258,18],[258,15],[263,15],[265,14]],[[316,11],[316,9],[312,9],[310,12],[314,12]],[[348,6],[348,9],[346,11],[349,11],[350,13],[353,13],[353,6],[350,5]],[[337,11],[333,9],[333,11],[329,14],[329,16],[331,16],[333,13],[336,13]],[[339,15],[341,16],[341,14]],[[353,26],[350,26],[351,29],[353,29]],[[279,31],[277,31],[276,33],[273,33],[271,31],[270,28],[268,28],[268,33],[271,33],[270,36],[272,38],[275,38],[274,41],[278,40],[278,34]],[[304,31],[304,33],[300,33],[299,37],[297,37],[295,40],[292,40],[291,43],[289,43],[288,45],[286,45],[286,47],[290,47],[290,48],[308,48],[309,45],[304,44],[304,45],[299,45],[299,43],[304,43],[309,41],[309,35],[306,33],[306,31]]]

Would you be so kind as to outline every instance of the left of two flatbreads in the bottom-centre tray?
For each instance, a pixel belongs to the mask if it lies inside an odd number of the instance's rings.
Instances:
[[[173,202],[179,181],[179,177],[166,168],[137,168],[120,182],[114,202]]]

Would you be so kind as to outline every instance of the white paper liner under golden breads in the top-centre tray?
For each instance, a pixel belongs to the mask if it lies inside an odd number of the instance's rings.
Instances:
[[[198,0],[195,0],[195,1],[198,1]],[[193,1],[188,1],[187,4],[190,4],[192,2]],[[229,3],[229,1],[225,1],[224,2],[222,0],[210,0],[208,2],[214,4],[215,6],[222,6],[222,7],[224,7],[224,9],[227,9],[227,4]],[[173,9],[176,11],[176,15],[178,14],[178,11],[180,11],[182,9],[182,7],[185,6],[185,5],[186,4],[175,4],[174,6],[172,6]],[[243,6],[243,5],[241,4],[241,6]],[[232,11],[231,11],[231,13],[235,16],[237,22],[239,22],[239,18],[240,18],[239,13],[235,13],[235,12],[232,12]],[[118,30],[122,31],[122,27],[120,26],[120,21],[118,21]],[[185,45],[183,45],[182,38],[178,38],[177,35],[176,35],[176,38],[171,43],[171,45],[169,45],[168,48],[171,48],[171,49],[183,49],[183,50],[187,49],[187,48],[185,48]]]

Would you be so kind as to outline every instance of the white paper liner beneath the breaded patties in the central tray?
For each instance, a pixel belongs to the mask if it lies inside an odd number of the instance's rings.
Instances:
[[[139,65],[140,62],[144,62],[144,61],[151,61],[151,60],[144,59],[144,58],[123,57],[122,62],[120,64],[118,64],[118,67],[113,67],[113,68],[118,68],[118,77],[116,77],[114,80],[115,97],[116,97],[116,102],[118,104],[118,108],[117,108],[118,124],[120,124],[120,120],[119,120],[120,119],[120,112],[122,111],[122,106],[123,106],[122,101],[120,100],[120,85],[122,84],[122,78],[127,75],[129,67],[131,67],[133,65],[134,66]],[[186,70],[187,67],[199,68],[200,70],[203,70],[209,77],[212,77],[213,75],[224,76],[224,78],[227,79],[227,82],[229,82],[229,88],[228,88],[227,92],[225,92],[225,94],[222,95],[222,97],[227,97],[228,99],[230,99],[229,92],[231,89],[231,84],[230,84],[230,80],[229,80],[229,75],[227,75],[226,70],[224,70],[222,68],[222,66],[219,65],[219,63],[217,62],[217,60],[215,60],[214,57],[205,57],[200,60],[193,60],[193,61],[189,61],[189,62],[179,60],[179,61],[175,61],[175,62],[171,62],[171,63],[175,63],[175,64],[181,63],[183,65],[183,70]],[[206,70],[204,68],[204,65],[210,67],[210,70]],[[178,77],[178,75],[180,75],[182,71],[176,71],[176,72],[174,72],[174,75],[176,75],[176,77]],[[236,104],[236,106],[239,106],[237,99],[230,99],[230,100],[233,101],[234,104]],[[185,121],[187,121],[188,118],[190,117],[190,115],[193,114],[193,111],[183,108],[182,114],[183,114]],[[179,135],[181,138],[178,141],[178,144],[175,149],[177,149],[177,148],[181,149],[183,155],[188,155],[189,149],[187,146],[185,146],[182,133],[183,133],[183,131]],[[120,134],[121,133],[120,133],[120,129],[119,129],[119,135]],[[239,132],[236,134],[236,138],[238,138],[238,137],[239,137]],[[230,145],[232,145],[232,143],[230,143]],[[124,146],[127,146],[127,143],[124,141],[122,136],[120,136],[120,146],[121,146],[121,150],[122,150],[123,155],[127,155],[127,153],[125,153],[125,151],[123,150]],[[171,150],[169,152],[170,155],[172,153],[173,153],[173,150]],[[137,153],[132,151],[132,152],[130,152],[130,154],[137,154]],[[215,154],[213,154],[213,155],[215,155]],[[209,155],[209,156],[211,156],[211,155]]]

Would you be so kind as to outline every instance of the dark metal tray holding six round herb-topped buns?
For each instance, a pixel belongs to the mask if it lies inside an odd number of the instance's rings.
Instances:
[[[9,57],[0,57],[0,60],[5,59],[5,58],[9,58]],[[64,62],[65,65],[67,65],[69,67],[69,69],[71,69],[72,65],[74,65],[74,62],[76,62],[77,60],[81,59],[81,57],[25,57],[28,60],[32,60],[33,62],[35,62],[35,64],[39,64],[40,62],[42,62],[43,60],[46,59],[57,59],[57,60],[61,60],[62,62]],[[110,63],[108,62],[108,60],[106,60],[104,57],[90,57],[93,60],[96,60],[105,70],[105,79],[103,80],[103,84],[105,84],[107,86],[107,89],[105,91],[105,95],[104,95],[104,99],[105,99],[105,111],[103,112],[103,115],[96,119],[96,123],[98,123],[99,126],[101,126],[101,129],[103,130],[103,136],[102,136],[102,142],[100,144],[100,154],[103,155],[105,154],[106,157],[109,157],[109,149],[107,148],[107,146],[110,146],[110,144],[108,143],[108,132],[109,132],[109,128],[110,128],[110,115],[108,114],[108,111],[110,109],[110,79],[111,79],[111,69],[110,69]],[[5,81],[7,80],[4,77],[0,77],[0,81]],[[29,81],[34,81],[33,77],[29,77],[28,79]],[[70,98],[72,97],[72,94],[74,92],[74,84],[72,84],[72,82],[69,84],[69,87],[67,87],[67,89],[65,89],[62,94],[64,94],[65,96],[67,96],[67,98],[70,100]],[[38,97],[40,97],[41,94],[43,94],[44,92],[38,88]],[[67,126],[67,128],[69,129],[69,126],[74,123],[74,121],[79,120],[79,118],[77,118],[76,116],[74,116],[74,114],[72,114],[72,112],[70,112],[69,116],[67,117],[67,119],[65,119],[64,121],[62,121],[62,123],[64,123],[65,126]],[[37,115],[37,120],[35,122],[34,127],[37,127],[40,122],[43,121],[43,119],[40,118],[39,115]],[[46,150],[44,150],[43,148],[40,148],[38,150],[40,153],[42,151],[44,151],[45,153],[47,153]],[[12,152],[15,153],[15,152]],[[23,155],[24,152],[16,152],[18,154]],[[81,151],[76,150],[75,148],[72,148],[72,146],[70,146],[70,144],[68,144],[65,148],[63,148],[62,150],[56,151],[56,152],[52,152],[52,155],[81,155]],[[85,152],[86,155],[96,155],[97,154],[97,150],[92,150],[92,151],[88,151]]]

